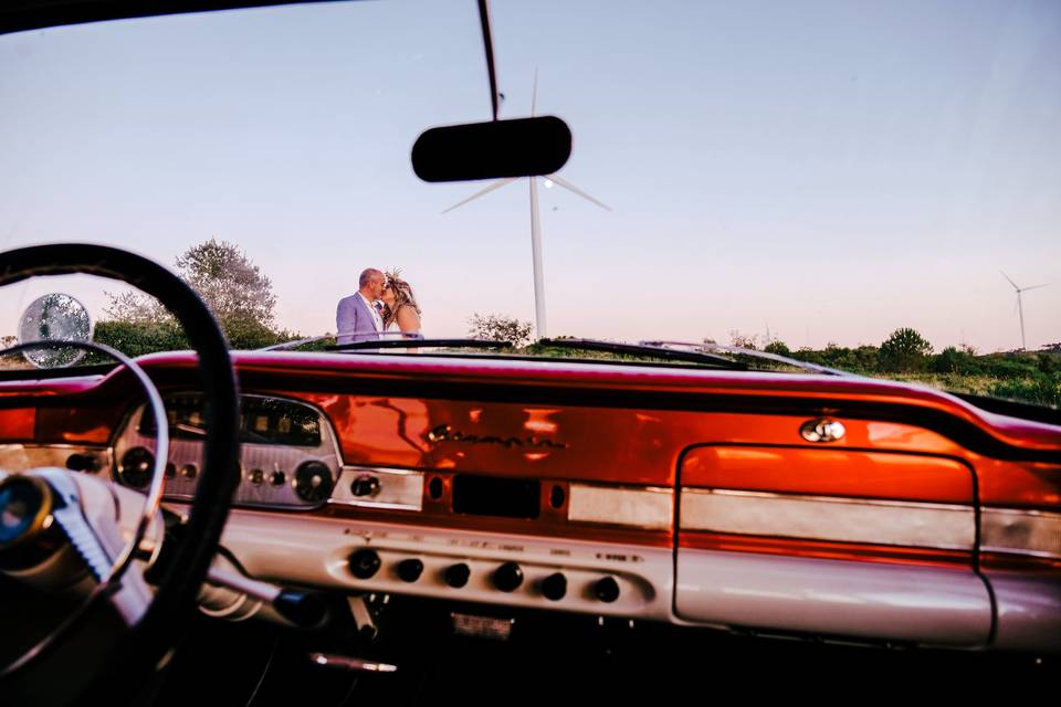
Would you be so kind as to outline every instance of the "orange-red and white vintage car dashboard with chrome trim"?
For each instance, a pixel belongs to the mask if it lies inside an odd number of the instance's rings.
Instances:
[[[222,546],[254,579],[494,612],[1061,650],[1057,426],[853,377],[234,361],[241,481]],[[141,363],[169,415],[165,499],[179,514],[202,464],[195,361]],[[0,382],[0,467],[146,487],[155,421],[120,371]],[[233,599],[210,613],[253,612]]]

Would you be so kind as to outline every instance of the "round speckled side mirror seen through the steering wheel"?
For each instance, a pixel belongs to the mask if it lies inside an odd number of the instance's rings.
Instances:
[[[60,293],[38,297],[27,307],[19,325],[19,344],[33,341],[91,341],[92,319],[83,304]],[[38,368],[65,368],[85,355],[73,347],[53,346],[22,354]]]

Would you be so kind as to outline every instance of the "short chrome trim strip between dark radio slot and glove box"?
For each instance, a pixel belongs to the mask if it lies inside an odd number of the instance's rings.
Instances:
[[[665,530],[673,524],[674,492],[670,488],[614,488],[571,484],[568,493],[568,520],[607,523],[650,530]]]

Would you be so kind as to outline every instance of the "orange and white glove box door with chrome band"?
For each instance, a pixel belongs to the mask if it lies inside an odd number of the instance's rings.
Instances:
[[[703,445],[679,467],[674,606],[690,622],[974,646],[973,469],[948,457]]]

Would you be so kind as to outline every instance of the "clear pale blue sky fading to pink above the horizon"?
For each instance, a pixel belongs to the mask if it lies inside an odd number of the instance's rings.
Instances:
[[[548,334],[736,330],[796,348],[918,329],[936,350],[1061,341],[1061,3],[492,2],[502,117],[564,118],[539,182]],[[334,331],[369,266],[429,335],[530,320],[526,180],[428,184],[409,150],[486,120],[473,0],[323,3],[0,36],[0,249],[101,242],[172,266],[210,238]],[[0,289],[103,315],[113,283]]]

